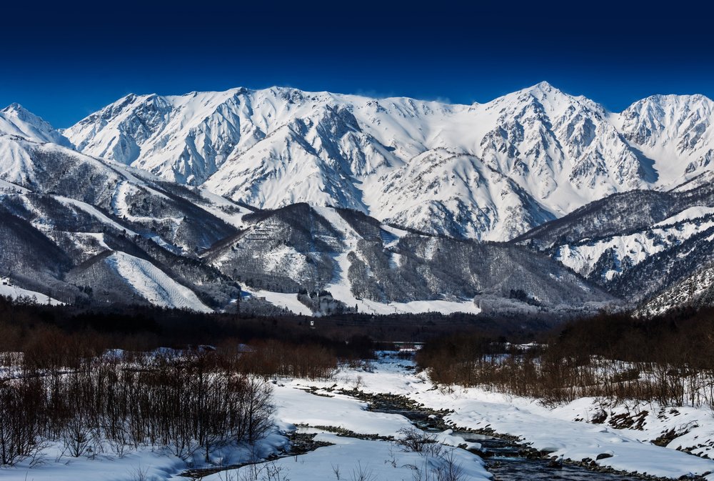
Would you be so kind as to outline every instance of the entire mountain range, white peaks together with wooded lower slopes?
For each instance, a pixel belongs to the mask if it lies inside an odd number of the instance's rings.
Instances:
[[[12,104],[1,274],[199,310],[640,302],[714,260],[712,106],[614,114],[545,82],[473,105],[273,87],[132,94],[58,131]]]

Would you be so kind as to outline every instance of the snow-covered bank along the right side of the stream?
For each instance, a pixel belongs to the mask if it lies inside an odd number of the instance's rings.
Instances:
[[[490,428],[495,432],[515,435],[537,450],[552,451],[553,455],[562,455],[565,459],[595,460],[599,455],[609,455],[597,460],[597,464],[659,477],[678,478],[690,473],[704,475],[714,472],[713,460],[675,449],[688,442],[710,447],[714,444],[714,417],[708,410],[678,408],[680,415],[670,415],[666,419],[649,415],[653,419],[645,424],[643,430],[615,429],[587,422],[598,410],[593,399],[577,400],[549,409],[535,400],[476,388],[440,390],[425,374],[416,374],[411,369],[412,365],[402,359],[386,358],[374,363],[372,370],[343,370],[336,377],[338,385],[346,389],[358,386],[363,392],[388,392],[406,396],[436,410],[453,410],[445,419],[459,427],[474,430]],[[652,413],[658,413],[658,410],[656,406],[650,407]],[[663,432],[676,431],[687,424],[698,426],[695,428],[697,431],[673,440],[668,447],[650,442]],[[714,480],[714,475],[708,475],[707,479]]]

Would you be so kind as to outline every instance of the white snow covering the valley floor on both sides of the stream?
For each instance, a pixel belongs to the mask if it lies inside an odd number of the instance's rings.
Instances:
[[[401,395],[433,410],[448,410],[451,413],[445,420],[453,425],[472,430],[490,428],[521,437],[533,448],[550,451],[553,456],[575,461],[601,457],[596,461],[597,465],[615,470],[646,472],[675,479],[693,473],[714,480],[714,475],[708,475],[714,471],[714,461],[675,449],[714,444],[714,417],[709,410],[660,410],[649,405],[640,407],[639,412],[648,412],[643,415],[642,430],[615,429],[607,424],[588,422],[593,412],[600,409],[593,399],[548,408],[534,400],[473,388],[439,389],[425,374],[415,372],[413,362],[388,355],[362,367],[343,367],[329,380],[274,380],[276,432],[254,449],[243,446],[217,450],[211,455],[211,462],[239,465],[261,460],[283,449],[287,442],[284,434],[294,430],[316,434],[315,441],[329,445],[303,455],[222,470],[202,479],[438,480],[440,468],[443,473],[449,465],[447,456],[451,456],[451,467],[460,467],[462,480],[492,478],[481,457],[467,450],[445,447],[441,456],[431,456],[404,450],[395,442],[386,440],[387,437],[401,437],[403,430],[411,427],[411,422],[401,415],[368,410],[366,402],[346,394],[354,390],[366,395]],[[670,415],[662,415],[663,412]],[[688,431],[688,434],[675,437],[667,447],[650,442],[668,430]],[[465,443],[451,430],[438,435],[438,440],[451,446]],[[470,447],[477,446],[471,444]],[[700,448],[699,452],[707,454],[708,451]],[[18,481],[181,480],[188,479],[181,477],[182,472],[189,467],[200,467],[202,462],[201,455],[187,463],[166,452],[148,448],[131,451],[123,457],[98,454],[94,459],[59,454],[55,447],[49,447],[39,465],[29,467],[28,462],[23,462],[16,467],[0,469],[0,478]]]

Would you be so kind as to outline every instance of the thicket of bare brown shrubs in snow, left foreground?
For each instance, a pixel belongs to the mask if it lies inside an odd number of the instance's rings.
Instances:
[[[94,352],[50,342],[4,359],[20,361],[21,372],[0,380],[1,465],[38,457],[46,442],[67,457],[151,446],[208,459],[213,448],[255,442],[272,426],[271,385],[242,372],[237,353]]]

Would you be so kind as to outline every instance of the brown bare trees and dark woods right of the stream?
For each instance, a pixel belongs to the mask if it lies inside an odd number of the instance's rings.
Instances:
[[[451,335],[428,342],[417,360],[443,385],[545,402],[593,396],[714,407],[714,309],[653,319],[600,314],[568,322],[528,346],[483,334]]]

